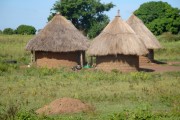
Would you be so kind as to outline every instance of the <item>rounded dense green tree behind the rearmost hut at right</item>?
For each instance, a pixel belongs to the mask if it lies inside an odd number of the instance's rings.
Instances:
[[[180,10],[167,2],[147,2],[134,12],[155,34],[163,32],[177,34],[180,31]]]

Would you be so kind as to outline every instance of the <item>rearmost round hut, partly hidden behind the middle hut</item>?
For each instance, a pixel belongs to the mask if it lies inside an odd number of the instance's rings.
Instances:
[[[134,14],[132,14],[131,17],[127,20],[127,23],[135,31],[135,33],[142,40],[142,42],[145,44],[146,48],[149,51],[148,54],[139,57],[140,65],[153,62],[154,49],[161,48],[159,41],[156,39],[153,33],[144,25],[144,23]]]

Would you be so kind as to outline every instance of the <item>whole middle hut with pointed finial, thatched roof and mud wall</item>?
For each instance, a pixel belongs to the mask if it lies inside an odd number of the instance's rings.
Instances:
[[[96,68],[104,71],[136,71],[139,55],[148,51],[132,28],[124,22],[118,12],[90,45],[88,54],[96,57]]]

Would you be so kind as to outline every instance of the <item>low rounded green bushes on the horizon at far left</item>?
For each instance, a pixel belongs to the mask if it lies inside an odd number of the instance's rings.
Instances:
[[[36,33],[36,29],[30,25],[20,25],[17,29],[5,28],[3,31],[0,30],[0,34],[12,35],[12,34],[20,34],[20,35],[34,35]]]

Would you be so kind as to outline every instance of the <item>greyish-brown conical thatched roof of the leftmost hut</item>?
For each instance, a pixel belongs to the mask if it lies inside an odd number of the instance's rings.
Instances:
[[[56,14],[26,46],[27,50],[71,52],[87,50],[87,38],[65,17]]]

